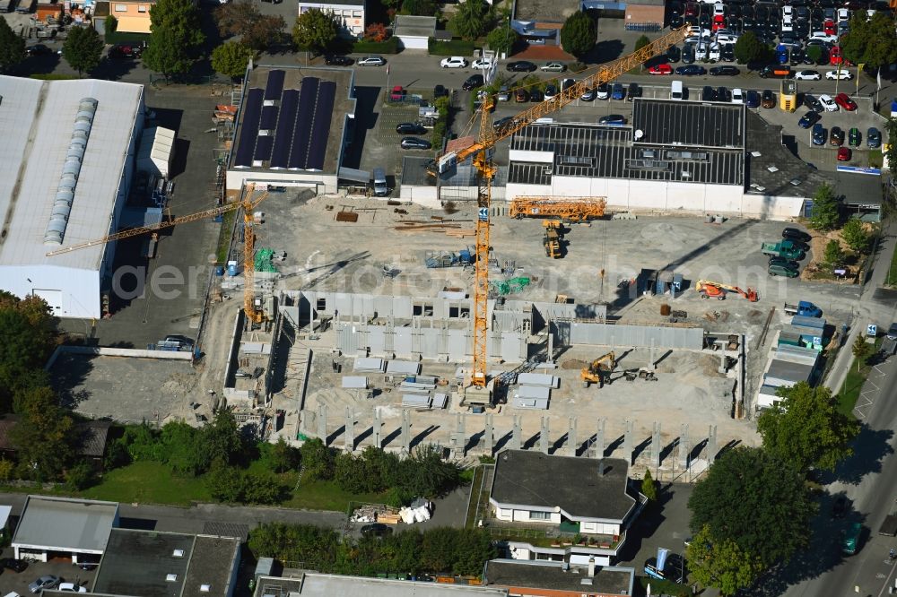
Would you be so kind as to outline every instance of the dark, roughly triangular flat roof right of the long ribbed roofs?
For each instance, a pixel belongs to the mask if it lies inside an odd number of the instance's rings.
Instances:
[[[770,125],[751,111],[747,112],[747,168],[745,186],[748,193],[785,197],[812,197],[823,183],[832,178],[797,158],[782,144],[782,127]],[[760,155],[755,155],[759,153]]]

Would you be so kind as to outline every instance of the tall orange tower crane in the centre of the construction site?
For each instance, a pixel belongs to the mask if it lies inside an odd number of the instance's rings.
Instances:
[[[568,85],[552,99],[530,104],[530,107],[516,117],[504,120],[500,125],[492,125],[492,108],[496,99],[486,95],[480,107],[480,130],[475,143],[463,149],[448,151],[431,164],[431,174],[450,176],[457,164],[468,158],[473,160],[476,172],[476,263],[474,278],[474,347],[473,367],[469,383],[464,387],[462,402],[492,403],[486,378],[486,342],[488,341],[488,301],[489,301],[489,208],[492,203],[492,177],[496,167],[492,161],[492,148],[502,139],[528,126],[539,118],[547,117],[555,111],[576,101],[586,91],[597,89],[602,83],[610,82],[621,74],[642,65],[646,60],[666,52],[671,46],[682,43],[688,35],[687,26],[670,31],[614,62],[600,65],[594,74],[589,74]]]

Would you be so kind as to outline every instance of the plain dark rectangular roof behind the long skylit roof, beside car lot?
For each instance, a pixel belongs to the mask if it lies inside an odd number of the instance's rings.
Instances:
[[[745,107],[636,98],[632,128],[644,134],[637,143],[742,149]]]

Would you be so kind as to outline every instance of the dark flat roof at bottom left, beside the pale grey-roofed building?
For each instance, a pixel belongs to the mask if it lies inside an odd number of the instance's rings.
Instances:
[[[179,532],[116,529],[93,593],[141,597],[223,597],[239,564],[239,540]],[[180,550],[181,555],[175,555]],[[176,575],[174,581],[167,575]],[[209,592],[201,591],[209,584]]]

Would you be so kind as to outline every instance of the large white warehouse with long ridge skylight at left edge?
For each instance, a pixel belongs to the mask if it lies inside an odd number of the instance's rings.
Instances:
[[[0,289],[59,317],[99,318],[116,244],[48,256],[118,229],[144,126],[144,88],[0,76]]]

